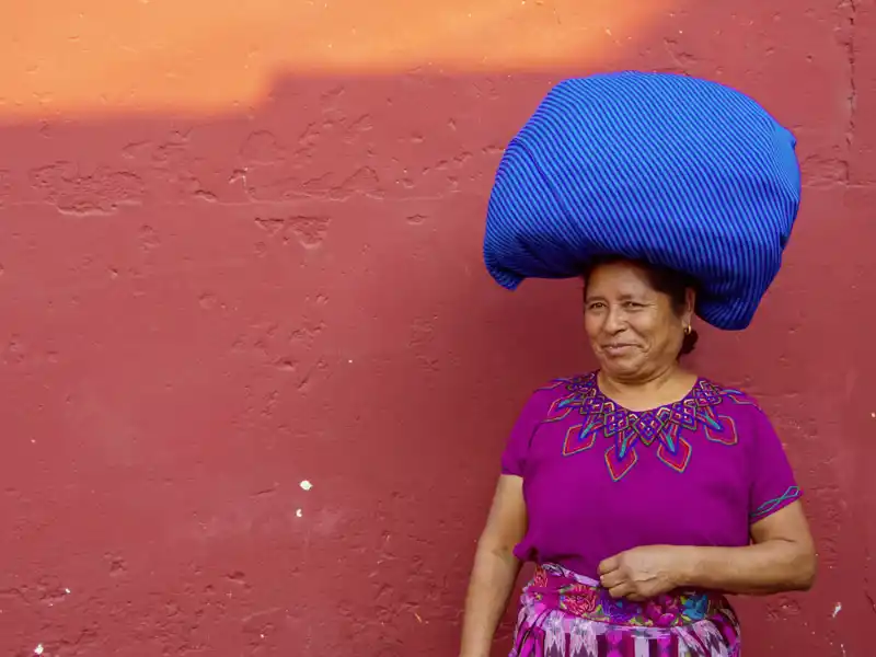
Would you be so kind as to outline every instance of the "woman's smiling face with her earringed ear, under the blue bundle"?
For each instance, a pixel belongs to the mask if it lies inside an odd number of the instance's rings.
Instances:
[[[678,360],[692,309],[692,291],[688,292],[688,308],[679,316],[669,296],[652,287],[644,269],[618,262],[590,273],[584,324],[607,374],[621,380],[647,379]]]

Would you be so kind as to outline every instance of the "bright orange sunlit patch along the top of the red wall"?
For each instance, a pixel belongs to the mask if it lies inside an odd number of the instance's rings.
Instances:
[[[593,66],[670,0],[31,0],[0,9],[0,117],[252,104],[284,74]]]

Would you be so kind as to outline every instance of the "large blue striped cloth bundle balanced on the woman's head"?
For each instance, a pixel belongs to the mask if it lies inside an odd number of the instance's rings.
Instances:
[[[502,286],[622,255],[700,284],[696,313],[745,328],[800,200],[794,136],[750,97],[669,73],[566,80],[508,145],[484,261]]]

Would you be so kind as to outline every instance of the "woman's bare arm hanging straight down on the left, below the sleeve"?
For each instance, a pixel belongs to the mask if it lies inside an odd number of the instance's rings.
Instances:
[[[499,477],[493,506],[474,556],[474,567],[465,598],[460,657],[489,657],[493,635],[508,604],[520,560],[514,548],[527,531],[523,480]]]

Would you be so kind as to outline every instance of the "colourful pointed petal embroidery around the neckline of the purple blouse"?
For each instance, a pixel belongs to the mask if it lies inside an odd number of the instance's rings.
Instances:
[[[604,459],[615,482],[638,461],[635,448],[639,442],[645,447],[657,442],[657,458],[672,470],[684,472],[691,459],[691,445],[683,438],[682,430],[695,430],[699,424],[703,425],[707,440],[736,445],[739,441],[736,424],[733,418],[719,414],[717,407],[726,399],[737,404],[752,403],[738,390],[699,379],[683,400],[634,413],[603,395],[596,377],[596,372],[591,372],[556,381],[551,388],[564,387],[568,394],[553,403],[545,422],[565,419],[577,410],[585,422],[569,427],[563,454],[568,457],[592,448],[600,435],[609,438],[612,445],[606,449]]]

